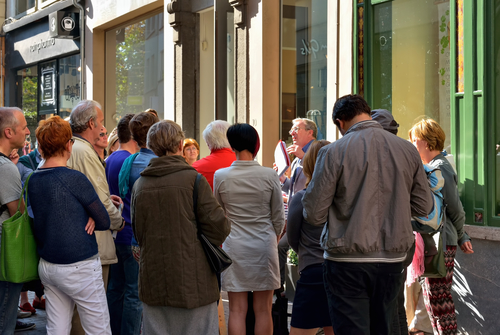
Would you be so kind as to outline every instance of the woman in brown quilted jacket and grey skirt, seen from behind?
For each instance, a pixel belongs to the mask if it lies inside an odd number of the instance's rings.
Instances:
[[[145,334],[218,334],[217,278],[198,240],[199,227],[220,245],[230,225],[205,178],[182,157],[184,132],[173,121],[151,126],[151,159],[132,190],[131,219],[141,247],[139,298]]]

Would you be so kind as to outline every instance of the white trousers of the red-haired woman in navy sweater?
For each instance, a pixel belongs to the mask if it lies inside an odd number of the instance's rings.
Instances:
[[[69,334],[75,304],[86,334],[111,334],[99,257],[72,264],[40,259],[38,274],[45,287],[47,334]]]

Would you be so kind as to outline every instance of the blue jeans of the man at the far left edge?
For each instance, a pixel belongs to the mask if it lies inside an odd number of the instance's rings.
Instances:
[[[0,334],[14,334],[19,294],[23,284],[0,281]]]

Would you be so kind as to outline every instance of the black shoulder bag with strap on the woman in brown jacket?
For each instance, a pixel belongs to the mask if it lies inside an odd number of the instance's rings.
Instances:
[[[196,218],[196,228],[198,230],[198,239],[200,240],[205,255],[207,256],[208,264],[215,273],[221,273],[233,263],[231,258],[226,254],[224,250],[218,245],[214,245],[210,242],[207,237],[201,232],[200,223],[198,221],[198,185],[200,184],[201,174],[198,173],[196,180],[194,182],[193,189],[193,208],[194,216]]]

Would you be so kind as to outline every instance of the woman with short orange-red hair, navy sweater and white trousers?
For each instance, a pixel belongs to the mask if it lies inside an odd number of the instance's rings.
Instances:
[[[59,116],[36,130],[43,167],[27,180],[33,233],[45,287],[47,333],[69,334],[76,304],[87,334],[111,334],[94,229],[109,229],[109,216],[90,181],[66,167],[71,127]]]

